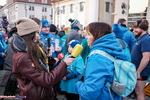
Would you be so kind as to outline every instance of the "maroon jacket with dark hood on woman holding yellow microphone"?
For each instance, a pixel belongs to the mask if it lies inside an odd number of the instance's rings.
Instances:
[[[21,96],[26,96],[22,100],[53,100],[53,85],[68,74],[66,63],[62,61],[49,73],[45,70],[39,72],[26,52],[24,40],[15,37],[13,47],[15,52],[12,72],[21,89]]]

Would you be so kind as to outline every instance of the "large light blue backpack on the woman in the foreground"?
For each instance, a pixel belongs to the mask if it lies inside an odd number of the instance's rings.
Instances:
[[[102,50],[94,50],[91,52],[89,56],[93,54],[100,54],[114,62],[115,69],[113,81],[112,83],[105,82],[106,84],[104,84],[106,87],[108,87],[111,98],[112,95],[110,89],[112,89],[112,91],[119,96],[122,97],[128,96],[134,90],[137,82],[135,65],[128,61],[123,61],[114,58],[113,56]]]

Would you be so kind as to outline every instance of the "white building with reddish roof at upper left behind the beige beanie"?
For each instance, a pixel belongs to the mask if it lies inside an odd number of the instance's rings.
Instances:
[[[10,24],[14,24],[21,17],[37,17],[40,20],[51,21],[50,0],[7,0],[3,10],[3,16],[7,16]]]

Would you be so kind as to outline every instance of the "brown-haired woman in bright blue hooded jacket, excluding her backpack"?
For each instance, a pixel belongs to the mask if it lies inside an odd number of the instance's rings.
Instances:
[[[110,55],[122,60],[127,60],[122,47],[111,33],[111,26],[106,23],[93,22],[87,26],[86,36],[91,51],[103,50]],[[89,53],[89,55],[90,55]],[[85,65],[84,80],[76,83],[76,90],[81,96],[81,100],[111,100],[105,82],[113,81],[114,64],[111,60],[100,54],[91,55]],[[114,100],[122,98],[111,91]]]

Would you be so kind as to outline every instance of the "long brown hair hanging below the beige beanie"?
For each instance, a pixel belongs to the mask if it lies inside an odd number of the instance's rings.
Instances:
[[[40,50],[38,48],[38,45],[34,42],[35,39],[35,33],[30,33],[28,35],[22,36],[23,39],[25,39],[27,44],[27,54],[30,57],[31,61],[34,63],[35,68],[38,71],[43,70],[40,66],[39,59],[40,59]]]

